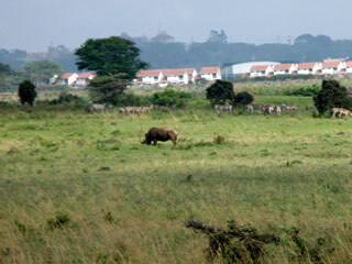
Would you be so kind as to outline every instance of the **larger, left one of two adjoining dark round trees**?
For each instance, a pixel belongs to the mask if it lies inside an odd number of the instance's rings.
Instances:
[[[234,99],[233,85],[226,80],[217,80],[207,88],[207,99],[211,105],[226,105]]]

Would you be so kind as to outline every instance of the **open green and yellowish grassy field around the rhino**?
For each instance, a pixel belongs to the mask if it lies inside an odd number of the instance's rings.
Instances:
[[[352,120],[312,118],[310,98],[256,102],[300,111],[0,108],[0,263],[206,263],[189,219],[279,235],[264,263],[314,263],[290,227],[334,248],[321,263],[351,263]],[[178,144],[142,145],[154,125],[174,128]]]

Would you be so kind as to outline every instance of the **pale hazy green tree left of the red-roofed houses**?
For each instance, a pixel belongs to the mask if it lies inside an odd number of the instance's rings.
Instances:
[[[35,82],[50,82],[50,78],[54,75],[62,76],[64,74],[63,67],[50,61],[33,62],[24,68],[25,77]]]

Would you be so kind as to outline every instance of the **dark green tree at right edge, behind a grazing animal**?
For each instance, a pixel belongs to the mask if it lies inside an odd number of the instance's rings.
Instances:
[[[333,79],[322,80],[321,90],[314,97],[315,106],[319,114],[330,111],[332,108],[352,109],[352,99],[345,87]]]

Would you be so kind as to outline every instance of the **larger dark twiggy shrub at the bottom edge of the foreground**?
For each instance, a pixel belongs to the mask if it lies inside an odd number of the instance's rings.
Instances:
[[[189,220],[187,228],[205,233],[209,240],[210,260],[221,257],[226,263],[260,263],[267,244],[278,245],[280,239],[274,234],[260,234],[251,226],[241,227],[229,221],[228,229],[213,228],[202,222]]]

